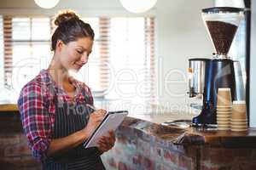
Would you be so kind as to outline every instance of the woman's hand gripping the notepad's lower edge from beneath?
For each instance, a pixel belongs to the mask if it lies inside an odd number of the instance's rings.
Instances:
[[[109,132],[109,137],[103,136],[98,144],[99,144],[99,150],[101,150],[102,152],[111,150],[113,148],[113,145],[115,143],[115,135],[113,133],[113,131]]]

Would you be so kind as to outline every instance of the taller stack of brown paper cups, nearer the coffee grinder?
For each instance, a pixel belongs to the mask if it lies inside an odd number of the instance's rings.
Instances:
[[[218,88],[217,124],[218,130],[230,130],[232,99],[230,88]]]

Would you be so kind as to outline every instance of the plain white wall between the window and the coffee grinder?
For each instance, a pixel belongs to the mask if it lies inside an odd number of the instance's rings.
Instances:
[[[213,47],[201,20],[201,8],[213,1],[160,0],[156,6],[159,64],[159,101],[162,107],[188,107],[189,57],[212,57]]]

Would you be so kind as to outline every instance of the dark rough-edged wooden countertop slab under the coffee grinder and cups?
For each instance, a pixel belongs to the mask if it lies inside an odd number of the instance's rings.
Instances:
[[[126,117],[122,127],[132,127],[143,131],[145,135],[172,144],[210,144],[222,147],[253,147],[256,148],[256,128],[247,132],[220,131],[217,128],[203,129],[195,127],[162,126],[136,117]]]

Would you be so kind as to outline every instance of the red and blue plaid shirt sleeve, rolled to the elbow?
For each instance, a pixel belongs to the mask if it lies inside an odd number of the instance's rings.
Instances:
[[[18,107],[32,156],[43,161],[49,148],[51,125],[42,85],[38,82],[26,84],[20,92]]]

